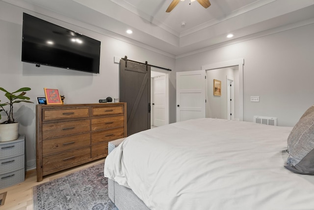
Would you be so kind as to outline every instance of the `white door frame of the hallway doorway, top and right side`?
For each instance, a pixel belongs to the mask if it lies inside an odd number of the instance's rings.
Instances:
[[[244,59],[226,60],[217,63],[202,65],[202,70],[212,70],[230,66],[238,66],[239,69],[239,120],[243,121],[243,65]]]

